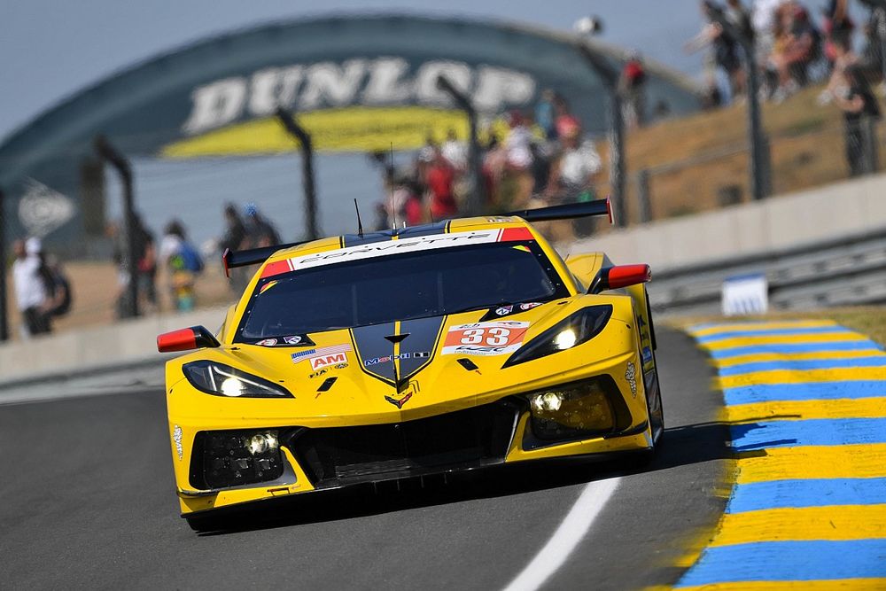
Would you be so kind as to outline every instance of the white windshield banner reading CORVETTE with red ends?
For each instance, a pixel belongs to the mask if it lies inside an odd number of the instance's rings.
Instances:
[[[401,238],[368,245],[346,246],[323,253],[304,254],[284,261],[269,262],[261,270],[262,277],[270,277],[298,271],[303,268],[323,267],[337,262],[361,261],[400,253],[419,253],[449,248],[451,246],[478,245],[494,242],[532,240],[532,233],[525,228],[504,228],[431,234],[414,238]]]

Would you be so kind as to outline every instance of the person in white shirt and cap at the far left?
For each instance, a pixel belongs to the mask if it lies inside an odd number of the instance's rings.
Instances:
[[[22,336],[25,338],[51,332],[46,285],[41,275],[43,246],[40,238],[16,240],[12,245],[15,262],[12,263],[12,281],[15,299],[22,317]]]

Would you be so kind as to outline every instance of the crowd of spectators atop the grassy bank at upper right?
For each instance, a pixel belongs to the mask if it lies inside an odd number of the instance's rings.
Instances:
[[[781,103],[810,82],[827,79],[820,105],[834,103],[843,112],[844,144],[850,175],[877,169],[875,122],[881,110],[874,93],[884,81],[886,2],[859,0],[868,9],[861,29],[864,42],[853,51],[856,23],[850,0],[828,0],[815,19],[797,0],[703,0],[702,30],[686,44],[687,51],[710,48],[706,64],[709,107],[724,102],[715,71],[729,82],[730,99],[746,100],[749,60],[759,74],[760,99]],[[752,48],[752,50],[750,49]]]

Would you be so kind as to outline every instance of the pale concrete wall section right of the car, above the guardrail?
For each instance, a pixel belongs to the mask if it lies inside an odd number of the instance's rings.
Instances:
[[[616,230],[581,240],[568,252],[602,251],[614,262],[647,262],[655,271],[884,228],[886,175],[874,175]]]

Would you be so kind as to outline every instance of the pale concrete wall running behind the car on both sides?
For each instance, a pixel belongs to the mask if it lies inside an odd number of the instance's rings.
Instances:
[[[572,253],[603,251],[616,262],[662,270],[766,253],[886,227],[886,175],[728,207],[582,240]],[[159,360],[160,332],[196,324],[215,330],[223,308],[160,315],[0,346],[0,385],[39,375]]]

